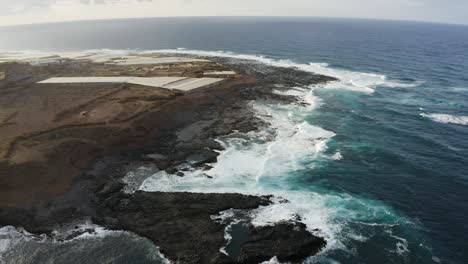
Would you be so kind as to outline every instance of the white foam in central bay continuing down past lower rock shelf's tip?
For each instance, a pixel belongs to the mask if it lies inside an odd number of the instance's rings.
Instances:
[[[306,97],[305,89],[296,90],[295,95]],[[313,96],[309,96],[309,100]],[[159,172],[148,178],[141,186],[144,191],[190,191],[209,193],[271,194],[287,198],[290,203],[275,203],[251,212],[254,225],[271,225],[282,220],[292,220],[298,215],[310,227],[319,228],[329,245],[338,226],[328,223],[327,206],[323,196],[307,191],[291,191],[275,188],[287,180],[291,172],[310,166],[325,149],[333,132],[304,122],[304,116],[313,105],[272,106],[254,104],[258,117],[271,124],[270,128],[255,133],[233,134],[219,139],[226,147],[212,164],[213,169],[192,171],[185,177],[174,177]],[[208,178],[206,175],[212,177]],[[266,183],[264,183],[266,182]],[[284,183],[286,184],[286,183]]]

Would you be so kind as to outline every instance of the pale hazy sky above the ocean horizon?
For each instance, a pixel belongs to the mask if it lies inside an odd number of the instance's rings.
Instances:
[[[468,24],[468,0],[0,0],[0,26],[175,16],[343,17]]]

